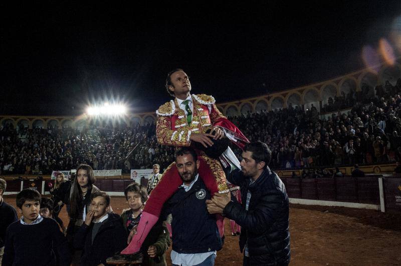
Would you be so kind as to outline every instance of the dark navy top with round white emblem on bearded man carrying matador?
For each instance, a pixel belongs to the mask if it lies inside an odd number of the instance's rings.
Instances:
[[[204,253],[222,248],[216,217],[209,214],[211,195],[198,176],[191,189],[179,188],[165,203],[164,215],[172,215],[172,249],[178,253]]]

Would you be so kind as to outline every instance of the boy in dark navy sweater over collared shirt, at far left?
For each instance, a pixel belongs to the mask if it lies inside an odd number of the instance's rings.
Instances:
[[[21,219],[7,228],[2,265],[55,265],[53,248],[60,254],[60,265],[69,265],[67,239],[58,223],[39,214],[41,194],[24,189],[17,194]]]

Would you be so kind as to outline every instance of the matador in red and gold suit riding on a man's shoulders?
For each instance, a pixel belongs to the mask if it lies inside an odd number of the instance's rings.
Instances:
[[[190,94],[189,77],[182,69],[170,71],[166,79],[166,89],[174,100],[161,105],[157,111],[156,136],[162,145],[213,147],[214,141],[228,137],[233,143],[243,148],[249,140],[216,107],[213,96]],[[210,133],[207,133],[210,132]],[[219,157],[212,158],[199,148],[195,148],[200,160],[199,176],[213,195],[215,192],[227,192],[223,167],[240,167],[233,151],[228,147]],[[157,222],[163,203],[182,184],[175,162],[164,171],[161,180],[153,189],[142,211],[136,234],[129,245],[121,252],[132,254],[140,247],[152,226]],[[174,217],[173,217],[174,218]],[[224,235],[224,217],[218,215],[217,225],[220,236]]]

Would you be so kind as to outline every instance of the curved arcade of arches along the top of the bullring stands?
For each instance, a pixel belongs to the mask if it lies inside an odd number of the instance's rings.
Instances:
[[[398,59],[399,61],[399,59]],[[266,95],[240,99],[231,102],[218,103],[217,107],[226,116],[236,116],[247,112],[260,112],[262,110],[274,110],[287,108],[289,106],[302,109],[311,108],[312,104],[318,111],[322,111],[323,106],[336,96],[345,95],[350,92],[363,92],[368,97],[375,95],[374,88],[377,85],[384,85],[386,81],[395,85],[401,78],[401,64],[396,62],[394,65],[384,63],[364,68],[359,71],[348,73],[333,79],[322,82],[301,86],[293,89],[282,90]],[[87,117],[72,116],[0,116],[0,126],[11,124],[14,128],[20,127],[42,127],[49,125],[62,128],[65,126],[77,127],[82,129],[86,126]],[[119,122],[116,121],[95,121],[96,125],[106,124],[127,125],[147,124],[156,120],[154,112],[144,112],[129,114]]]

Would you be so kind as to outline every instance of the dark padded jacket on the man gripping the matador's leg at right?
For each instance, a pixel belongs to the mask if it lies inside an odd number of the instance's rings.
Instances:
[[[290,262],[289,201],[278,175],[269,167],[250,185],[250,177],[236,170],[227,178],[240,185],[242,204],[229,202],[224,213],[241,225],[240,249],[248,241],[251,265],[285,265]],[[251,192],[248,211],[245,209]]]

